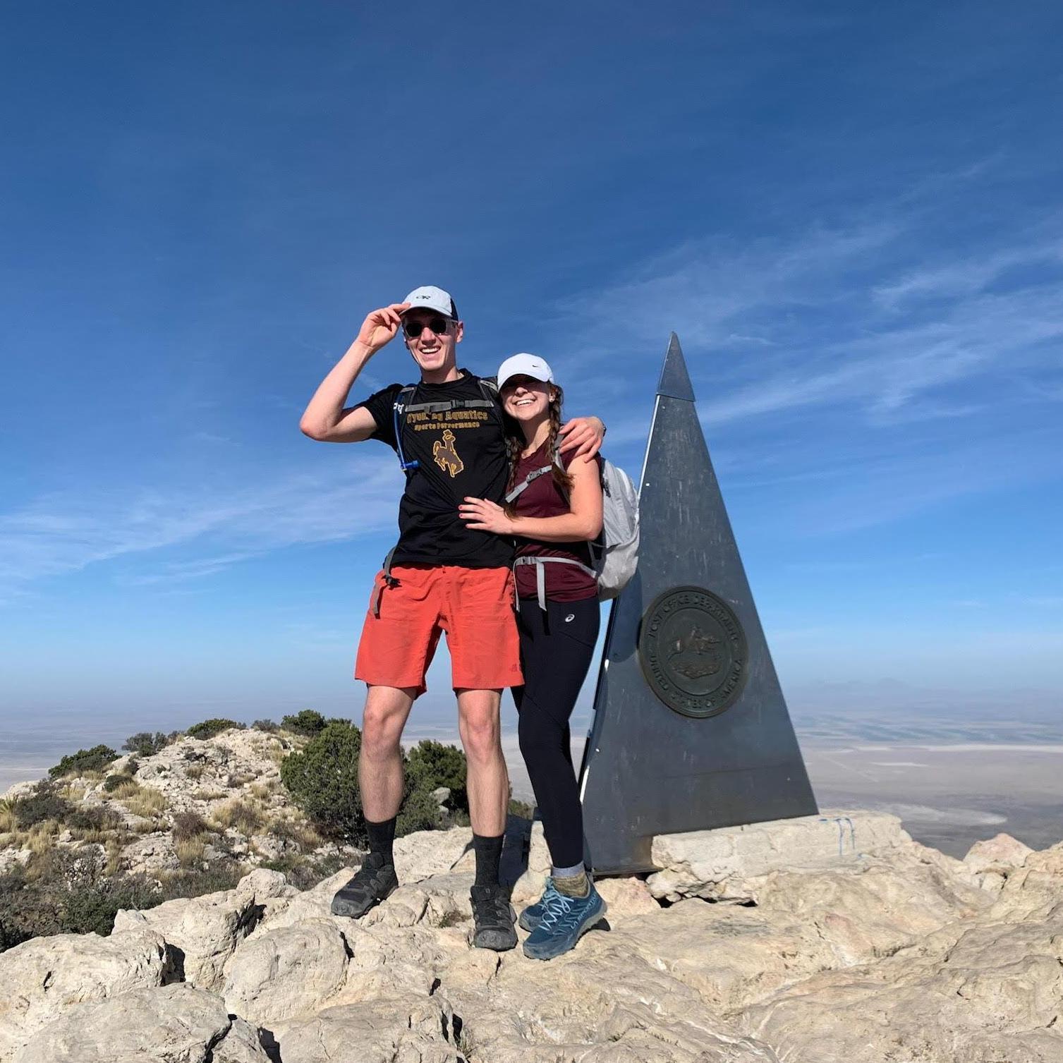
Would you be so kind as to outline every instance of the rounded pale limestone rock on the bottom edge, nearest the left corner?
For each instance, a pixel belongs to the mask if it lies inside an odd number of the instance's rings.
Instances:
[[[231,1033],[233,1041],[226,1045]],[[219,997],[190,985],[168,985],[71,1008],[38,1031],[13,1063],[267,1063],[268,1059],[247,1024],[230,1019]]]

